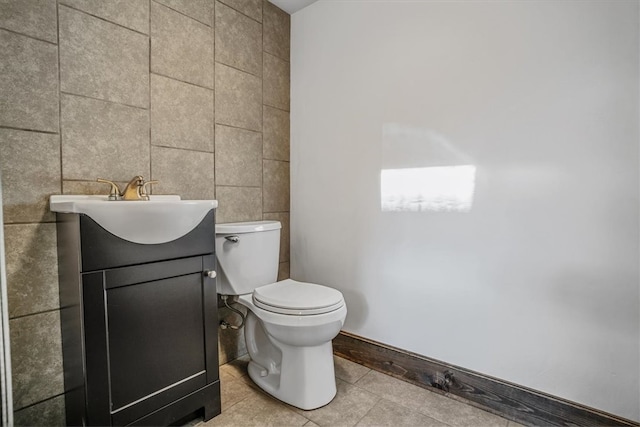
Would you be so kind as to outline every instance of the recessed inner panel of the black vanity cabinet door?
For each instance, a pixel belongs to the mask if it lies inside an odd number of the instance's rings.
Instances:
[[[112,411],[158,390],[206,384],[202,274],[107,289]]]

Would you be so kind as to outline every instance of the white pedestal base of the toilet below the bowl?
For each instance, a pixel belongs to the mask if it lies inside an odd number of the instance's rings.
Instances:
[[[277,343],[282,351],[279,370],[271,372],[249,362],[249,377],[278,400],[303,410],[316,409],[336,395],[331,341],[314,347],[293,347]]]

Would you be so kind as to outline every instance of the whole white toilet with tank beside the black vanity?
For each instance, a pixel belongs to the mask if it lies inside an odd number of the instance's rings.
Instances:
[[[249,309],[249,376],[267,393],[300,409],[336,394],[331,340],[347,316],[342,293],[278,276],[278,221],[216,224],[217,290]]]

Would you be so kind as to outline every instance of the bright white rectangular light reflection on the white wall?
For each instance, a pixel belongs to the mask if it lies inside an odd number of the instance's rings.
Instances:
[[[380,173],[382,211],[469,212],[475,181],[473,165],[383,169]]]

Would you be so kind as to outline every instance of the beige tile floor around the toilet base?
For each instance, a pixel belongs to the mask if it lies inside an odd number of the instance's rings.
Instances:
[[[338,393],[326,406],[303,411],[258,389],[246,357],[220,367],[222,414],[191,426],[433,426],[516,427],[505,418],[335,358]]]

